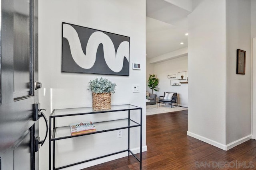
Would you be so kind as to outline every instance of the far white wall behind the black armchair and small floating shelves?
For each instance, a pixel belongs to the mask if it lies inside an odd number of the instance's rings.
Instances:
[[[154,64],[154,74],[159,78],[157,96],[163,96],[164,92],[177,92],[178,93],[178,105],[188,107],[188,84],[181,84],[180,86],[171,86],[170,78],[167,75],[176,74],[178,78],[178,72],[186,71],[186,78],[188,76],[188,56],[180,57],[161,63]],[[176,79],[176,78],[174,78]]]

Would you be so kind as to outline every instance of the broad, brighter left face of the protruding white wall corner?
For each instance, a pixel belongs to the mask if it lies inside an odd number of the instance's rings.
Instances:
[[[188,15],[188,135],[226,143],[226,1],[204,0]]]

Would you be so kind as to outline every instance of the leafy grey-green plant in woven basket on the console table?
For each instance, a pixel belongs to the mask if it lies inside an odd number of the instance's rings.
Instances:
[[[94,110],[111,108],[111,93],[116,90],[116,84],[106,78],[90,80],[87,90],[92,91],[92,108]]]

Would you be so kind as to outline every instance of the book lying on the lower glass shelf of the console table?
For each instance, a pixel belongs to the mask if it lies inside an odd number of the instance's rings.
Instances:
[[[96,131],[96,127],[90,122],[80,122],[70,124],[71,135],[81,135]]]

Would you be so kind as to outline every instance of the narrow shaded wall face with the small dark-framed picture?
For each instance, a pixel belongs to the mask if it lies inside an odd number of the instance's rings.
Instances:
[[[226,143],[251,135],[250,0],[226,0]],[[236,74],[236,49],[246,51],[245,75]]]

